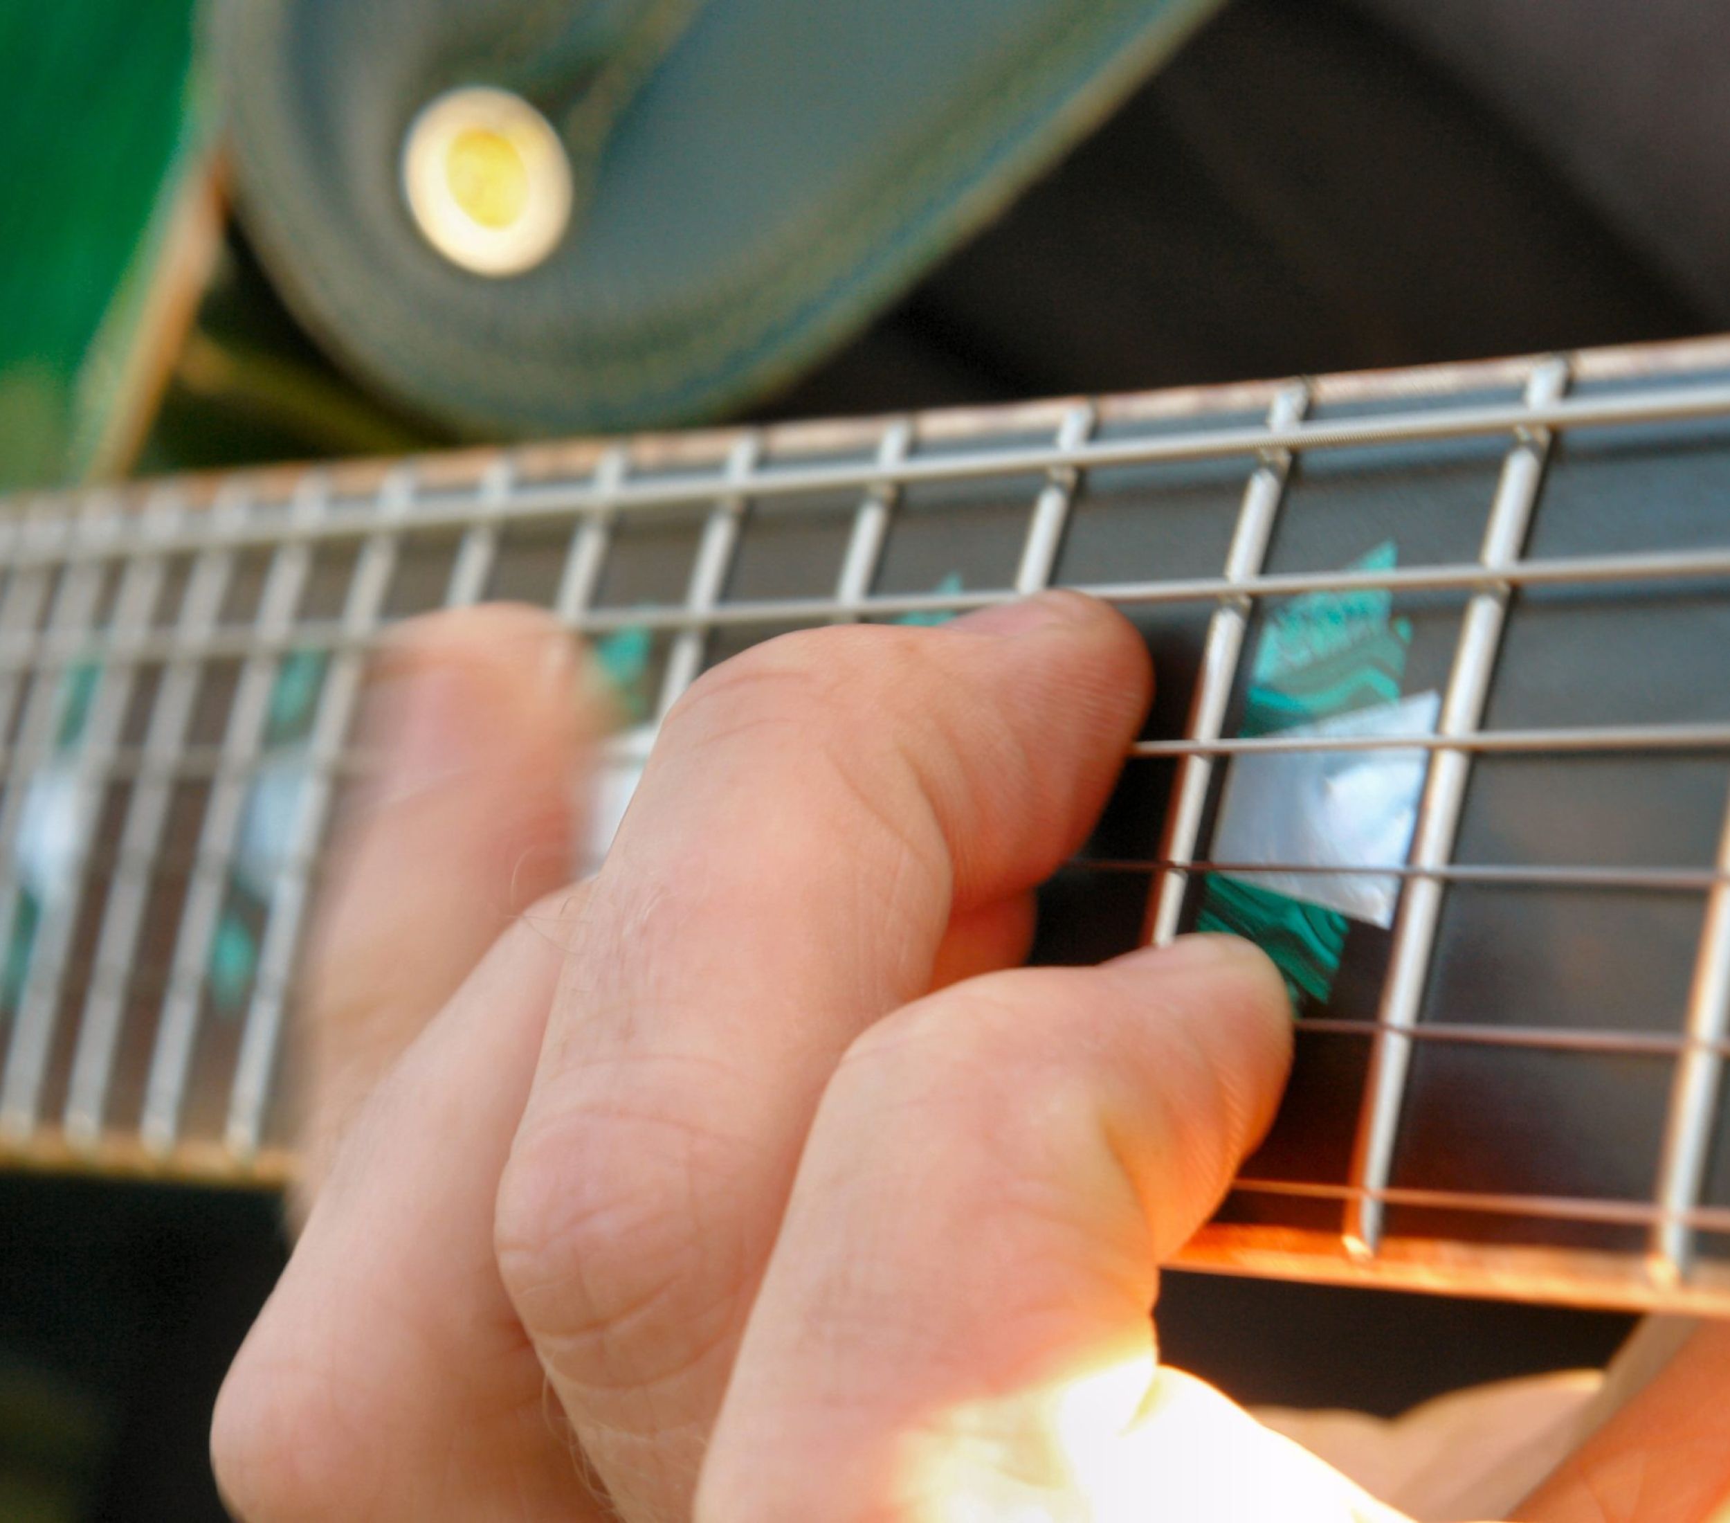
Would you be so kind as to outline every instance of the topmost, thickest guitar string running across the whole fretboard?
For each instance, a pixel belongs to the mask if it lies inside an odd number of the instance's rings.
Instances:
[[[1202,429],[1190,434],[1152,434],[1144,438],[1095,440],[1073,453],[1054,445],[1017,448],[981,448],[945,455],[919,455],[896,467],[893,481],[907,486],[915,483],[962,481],[981,476],[1041,474],[1054,467],[1073,466],[1092,471],[1102,466],[1144,466],[1176,460],[1228,459],[1232,455],[1259,457],[1266,450],[1353,448],[1368,445],[1429,443],[1493,434],[1517,434],[1522,429],[1566,431],[1576,427],[1611,427],[1657,422],[1688,422],[1730,414],[1730,386],[1683,386],[1654,391],[1628,391],[1592,398],[1564,398],[1545,407],[1460,407],[1434,408],[1396,415],[1370,415],[1330,419],[1327,422],[1301,422],[1289,429],[1270,433],[1266,427]],[[536,517],[559,517],[574,512],[593,512],[602,507],[621,511],[652,511],[687,507],[708,502],[720,492],[742,497],[804,497],[846,490],[865,490],[884,479],[875,464],[818,462],[808,466],[777,464],[754,469],[742,479],[727,479],[714,471],[659,478],[626,486],[612,502],[602,500],[593,490],[569,485],[519,486],[507,509],[512,523]],[[413,530],[464,530],[474,521],[474,502],[424,505],[412,524]],[[370,533],[370,523],[360,514],[330,514],[322,523],[266,524],[247,521],[223,538],[215,538],[208,523],[176,535],[164,550],[187,554],[221,547],[282,547],[299,540],[362,540]],[[112,545],[80,545],[66,559],[128,556],[131,538],[121,535]],[[26,550],[19,566],[52,564],[61,557],[40,550]]]

